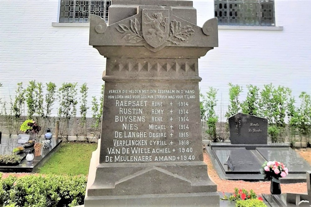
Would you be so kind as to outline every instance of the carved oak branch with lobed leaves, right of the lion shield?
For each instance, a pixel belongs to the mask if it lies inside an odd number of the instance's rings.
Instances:
[[[180,21],[171,21],[171,32],[169,33],[168,41],[180,45],[182,42],[187,41],[189,36],[194,33],[192,26],[187,25],[181,28]]]

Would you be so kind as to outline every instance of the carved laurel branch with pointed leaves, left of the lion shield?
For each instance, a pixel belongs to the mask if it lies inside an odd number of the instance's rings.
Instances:
[[[125,39],[125,41],[129,42],[129,43],[138,43],[142,40],[144,40],[144,38],[142,38],[142,34],[140,31],[140,23],[139,21],[135,18],[135,21],[130,20],[130,28],[128,28],[128,26],[123,25],[123,24],[118,24],[119,27],[116,27],[116,29],[121,32],[124,33],[124,37],[122,39]]]

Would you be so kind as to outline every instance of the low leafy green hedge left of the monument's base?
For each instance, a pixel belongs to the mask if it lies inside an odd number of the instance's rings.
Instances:
[[[27,175],[0,180],[0,206],[65,207],[84,204],[86,176]]]

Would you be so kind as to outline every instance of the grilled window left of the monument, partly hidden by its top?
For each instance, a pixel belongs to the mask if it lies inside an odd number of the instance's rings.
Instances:
[[[111,0],[61,0],[59,22],[88,22],[95,14],[108,21]]]

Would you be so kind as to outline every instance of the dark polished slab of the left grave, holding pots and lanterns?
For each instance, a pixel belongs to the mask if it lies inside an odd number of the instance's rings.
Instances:
[[[28,162],[25,158],[29,150],[33,151],[34,153],[34,146],[26,147],[25,152],[20,153],[22,157],[22,161],[20,164],[15,166],[7,166],[7,165],[0,165],[1,172],[32,172],[33,170],[37,169],[38,167],[42,166],[45,161],[49,159],[49,157],[59,148],[60,144],[62,143],[61,139],[55,139],[54,137],[51,139],[49,148],[42,148],[41,155],[35,156],[32,162]],[[24,146],[23,144],[17,144],[16,138],[8,139],[2,138],[0,144],[0,154],[12,154],[12,150],[18,146]]]

